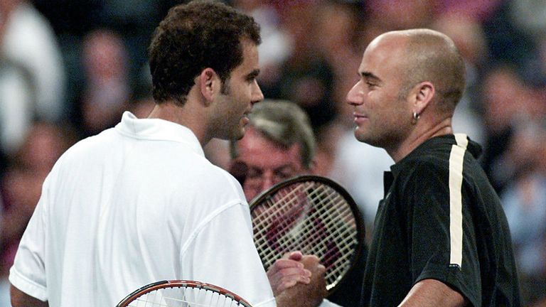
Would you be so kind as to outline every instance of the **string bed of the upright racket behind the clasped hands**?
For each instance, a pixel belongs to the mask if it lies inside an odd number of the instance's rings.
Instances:
[[[255,242],[266,269],[279,253],[298,249],[327,264],[328,285],[348,271],[358,231],[350,205],[335,189],[314,182],[292,185],[269,198],[266,206],[262,216],[253,216]],[[301,216],[287,216],[293,208]],[[301,242],[306,235],[309,239]]]

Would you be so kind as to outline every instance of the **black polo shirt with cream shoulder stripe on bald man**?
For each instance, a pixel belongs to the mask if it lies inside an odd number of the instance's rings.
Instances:
[[[397,306],[437,279],[473,306],[520,306],[501,201],[464,134],[437,136],[385,172],[361,306]]]

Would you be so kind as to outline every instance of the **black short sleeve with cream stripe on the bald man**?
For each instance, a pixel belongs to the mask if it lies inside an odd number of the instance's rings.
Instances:
[[[449,169],[424,163],[414,168],[408,181],[405,195],[410,195],[407,235],[412,278],[414,283],[437,279],[480,306],[472,191],[464,183],[450,184],[449,176],[453,177]]]

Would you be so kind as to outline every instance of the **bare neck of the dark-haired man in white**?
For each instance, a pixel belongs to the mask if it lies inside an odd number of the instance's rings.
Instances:
[[[186,101],[188,104],[188,101]],[[156,104],[154,109],[151,110],[151,113],[148,115],[149,119],[164,119],[169,122],[176,124],[181,124],[190,129],[193,134],[196,135],[201,146],[205,146],[210,141],[210,136],[207,136],[206,123],[203,120],[203,116],[196,114],[196,110],[191,107],[187,107],[184,104],[182,107],[174,104],[173,102],[164,102],[161,104]],[[199,120],[201,119],[201,120]]]

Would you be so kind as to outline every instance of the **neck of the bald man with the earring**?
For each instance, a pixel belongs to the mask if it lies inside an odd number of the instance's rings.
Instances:
[[[423,144],[424,141],[432,139],[434,136],[453,134],[453,129],[451,128],[451,117],[447,117],[441,122],[437,122],[437,124],[432,126],[426,125],[424,121],[417,122],[417,125],[419,124],[421,124],[421,126],[417,126],[416,129],[412,131],[412,134],[410,134],[405,141],[402,141],[400,146],[397,146],[395,149],[386,149],[387,153],[392,157],[395,163],[410,154],[417,148],[417,146]]]

